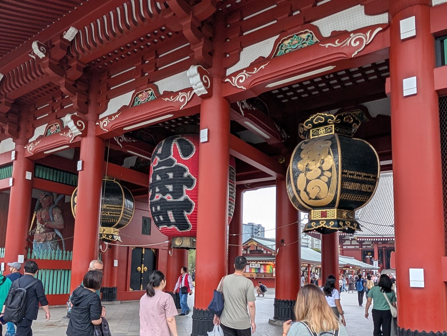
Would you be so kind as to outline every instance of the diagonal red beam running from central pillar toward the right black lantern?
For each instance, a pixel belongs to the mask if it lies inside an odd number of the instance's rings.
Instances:
[[[286,167],[278,163],[275,158],[262,153],[232,134],[230,134],[230,154],[274,178],[285,176]]]

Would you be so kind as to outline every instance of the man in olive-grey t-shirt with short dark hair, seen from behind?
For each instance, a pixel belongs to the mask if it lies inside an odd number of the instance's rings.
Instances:
[[[245,257],[236,257],[234,274],[223,279],[223,312],[220,319],[214,315],[214,324],[220,324],[224,336],[250,336],[256,331],[256,298],[253,282],[244,276],[246,265]]]

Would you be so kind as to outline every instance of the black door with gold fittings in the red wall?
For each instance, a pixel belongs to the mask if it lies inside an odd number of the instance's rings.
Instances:
[[[156,250],[133,247],[130,290],[146,290],[149,277],[156,268]]]

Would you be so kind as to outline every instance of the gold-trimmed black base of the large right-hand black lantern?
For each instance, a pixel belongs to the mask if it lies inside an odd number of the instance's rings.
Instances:
[[[315,209],[309,213],[309,222],[303,232],[316,231],[322,234],[332,232],[354,233],[361,231],[360,224],[355,220],[355,212],[342,209]]]

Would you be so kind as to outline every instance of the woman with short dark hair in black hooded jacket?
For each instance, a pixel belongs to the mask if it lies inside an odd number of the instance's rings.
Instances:
[[[101,288],[102,273],[88,271],[84,276],[84,286],[79,286],[72,294],[72,315],[68,323],[68,336],[93,336],[94,325],[102,323],[101,299],[95,291]]]

